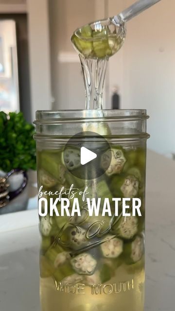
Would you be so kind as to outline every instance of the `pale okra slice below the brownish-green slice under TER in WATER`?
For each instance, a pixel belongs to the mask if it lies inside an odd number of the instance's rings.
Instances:
[[[108,241],[101,244],[102,254],[106,258],[117,258],[123,252],[123,241],[119,238],[111,239],[111,236],[106,236]]]

